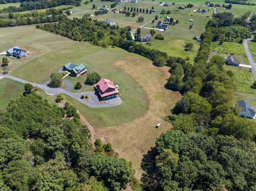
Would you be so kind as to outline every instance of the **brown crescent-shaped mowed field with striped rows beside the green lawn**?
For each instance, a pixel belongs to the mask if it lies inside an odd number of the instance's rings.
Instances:
[[[103,142],[110,142],[121,158],[132,161],[136,177],[140,178],[140,163],[143,155],[154,147],[156,138],[172,126],[164,121],[177,99],[178,92],[164,88],[170,75],[168,67],[155,67],[152,62],[138,57],[126,57],[116,62],[113,67],[130,75],[145,92],[148,105],[146,111],[132,122],[107,128],[95,128],[96,134]],[[132,91],[132,90],[131,90]],[[160,127],[156,128],[156,124]]]

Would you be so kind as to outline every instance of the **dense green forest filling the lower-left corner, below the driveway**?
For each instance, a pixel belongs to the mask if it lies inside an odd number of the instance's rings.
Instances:
[[[111,144],[96,150],[76,108],[49,104],[36,91],[11,100],[0,116],[0,190],[119,191],[134,169]],[[70,117],[72,116],[72,119]]]

